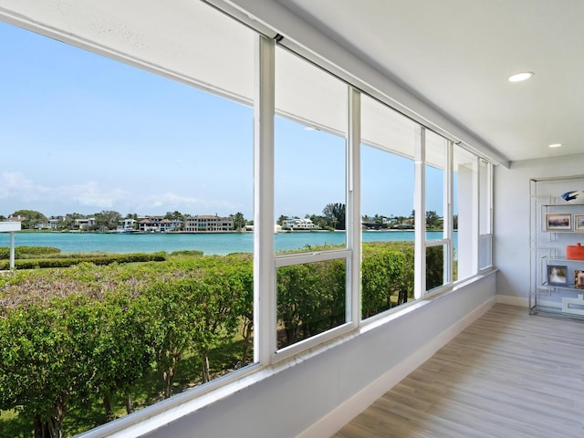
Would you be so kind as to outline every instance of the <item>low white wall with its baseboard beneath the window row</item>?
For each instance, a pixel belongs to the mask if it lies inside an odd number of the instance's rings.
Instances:
[[[494,302],[492,273],[143,436],[329,436]]]

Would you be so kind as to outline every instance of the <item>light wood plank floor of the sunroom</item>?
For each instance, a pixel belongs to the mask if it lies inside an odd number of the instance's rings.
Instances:
[[[584,321],[497,304],[335,438],[584,438]]]

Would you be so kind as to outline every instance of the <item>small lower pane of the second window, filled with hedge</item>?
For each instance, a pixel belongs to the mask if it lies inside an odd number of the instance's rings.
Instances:
[[[345,323],[345,259],[278,267],[276,279],[278,349]]]

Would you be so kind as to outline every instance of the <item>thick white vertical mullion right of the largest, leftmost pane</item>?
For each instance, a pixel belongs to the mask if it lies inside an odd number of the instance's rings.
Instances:
[[[267,365],[276,351],[274,268],[275,41],[255,40],[254,103],[254,360]]]

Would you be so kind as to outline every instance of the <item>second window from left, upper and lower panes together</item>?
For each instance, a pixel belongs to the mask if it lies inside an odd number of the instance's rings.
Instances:
[[[276,47],[278,349],[348,320],[347,102],[347,84]]]

